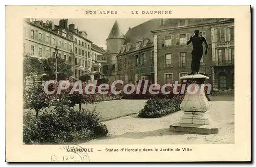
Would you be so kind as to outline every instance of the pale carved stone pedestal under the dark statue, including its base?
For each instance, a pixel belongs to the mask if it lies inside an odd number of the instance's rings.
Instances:
[[[179,123],[170,125],[170,130],[203,134],[218,133],[218,128],[208,115],[210,104],[204,92],[204,82],[209,78],[198,74],[183,76],[180,79],[183,84],[187,83],[185,97],[180,104],[183,115]]]

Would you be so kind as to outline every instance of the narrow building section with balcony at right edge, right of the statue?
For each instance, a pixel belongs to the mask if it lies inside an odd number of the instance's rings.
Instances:
[[[211,27],[214,91],[234,91],[234,20]]]

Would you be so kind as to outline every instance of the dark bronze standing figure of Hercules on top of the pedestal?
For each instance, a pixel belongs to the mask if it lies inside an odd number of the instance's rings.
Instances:
[[[189,75],[199,74],[200,69],[200,60],[203,56],[203,45],[202,43],[205,43],[205,52],[204,55],[207,55],[208,50],[208,43],[206,39],[202,36],[199,37],[199,30],[195,30],[195,35],[191,36],[189,41],[187,41],[187,45],[189,43],[193,44],[193,51],[192,54],[192,61],[191,61],[191,73]]]

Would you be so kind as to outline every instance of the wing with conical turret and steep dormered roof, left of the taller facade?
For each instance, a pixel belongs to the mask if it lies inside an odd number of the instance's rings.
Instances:
[[[134,28],[129,28],[123,35],[115,21],[107,43],[107,57],[111,74],[118,75],[125,83],[135,83],[145,78],[154,82],[154,41],[151,33],[157,19],[152,19]],[[116,64],[117,67],[116,67]],[[115,70],[113,67],[115,66]],[[114,79],[112,79],[114,81]]]

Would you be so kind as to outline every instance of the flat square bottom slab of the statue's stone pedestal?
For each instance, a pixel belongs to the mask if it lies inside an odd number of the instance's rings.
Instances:
[[[174,132],[198,133],[198,134],[216,134],[219,133],[219,128],[214,124],[183,124],[175,123],[170,125],[170,130]]]

